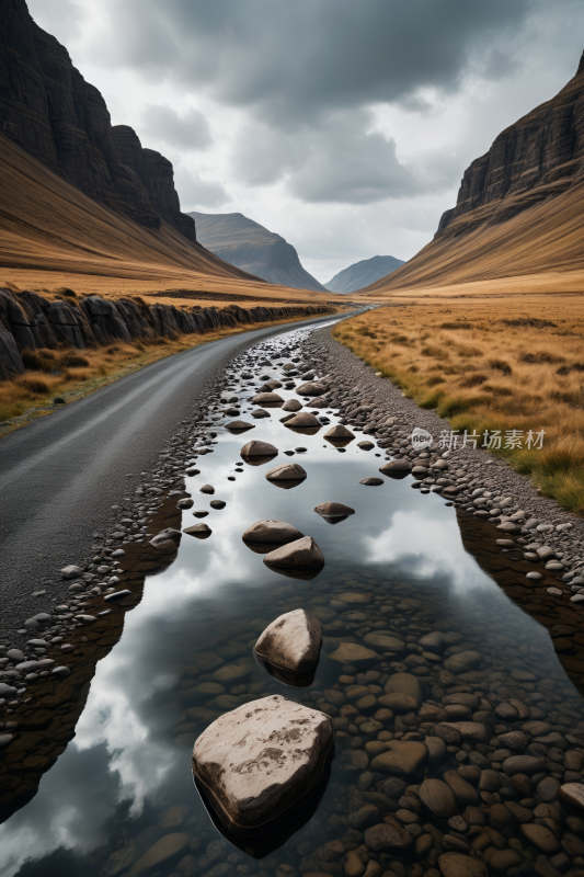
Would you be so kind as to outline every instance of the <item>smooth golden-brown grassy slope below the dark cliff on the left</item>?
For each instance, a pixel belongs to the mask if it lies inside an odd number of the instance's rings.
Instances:
[[[271,286],[165,221],[158,230],[138,225],[88,197],[3,135],[0,167],[3,282],[101,294],[187,288],[252,300],[335,298]]]

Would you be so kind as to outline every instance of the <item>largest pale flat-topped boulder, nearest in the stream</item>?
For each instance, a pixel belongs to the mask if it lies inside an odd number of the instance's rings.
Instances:
[[[272,695],[220,716],[193,750],[193,772],[236,833],[280,819],[318,784],[333,744],[324,713]]]

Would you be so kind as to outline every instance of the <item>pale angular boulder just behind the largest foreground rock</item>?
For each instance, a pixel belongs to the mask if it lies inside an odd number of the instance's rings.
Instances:
[[[293,610],[268,625],[255,653],[277,668],[306,674],[314,670],[322,646],[322,625],[306,610]]]

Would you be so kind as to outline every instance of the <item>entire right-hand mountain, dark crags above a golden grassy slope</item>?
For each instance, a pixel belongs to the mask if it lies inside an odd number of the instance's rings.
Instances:
[[[367,293],[461,283],[581,288],[583,234],[584,54],[559,94],[505,128],[465,171],[434,240]]]

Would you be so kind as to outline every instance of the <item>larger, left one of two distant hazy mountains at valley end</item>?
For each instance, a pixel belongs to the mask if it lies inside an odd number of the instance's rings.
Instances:
[[[241,213],[191,212],[199,243],[226,262],[263,277],[268,283],[297,289],[327,289],[306,271],[298,253],[279,235]]]

